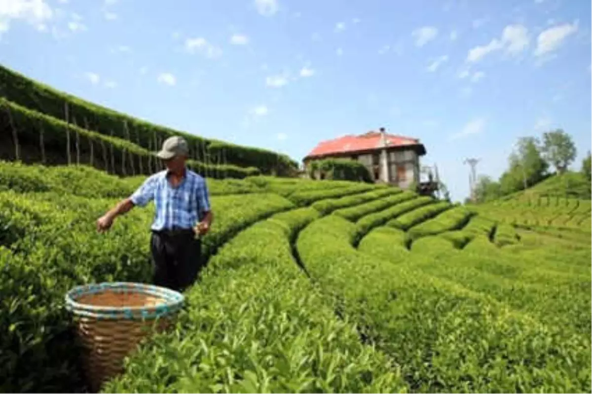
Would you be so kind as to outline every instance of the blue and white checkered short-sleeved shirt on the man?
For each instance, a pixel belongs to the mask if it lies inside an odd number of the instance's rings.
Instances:
[[[176,188],[170,185],[168,171],[158,172],[131,195],[134,205],[146,206],[155,202],[155,217],[152,230],[193,228],[204,212],[210,211],[210,199],[205,179],[186,169],[185,177]]]

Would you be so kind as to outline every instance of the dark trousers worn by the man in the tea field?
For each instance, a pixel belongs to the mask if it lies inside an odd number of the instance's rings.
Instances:
[[[156,286],[182,292],[195,282],[204,264],[193,231],[153,231],[150,244]]]

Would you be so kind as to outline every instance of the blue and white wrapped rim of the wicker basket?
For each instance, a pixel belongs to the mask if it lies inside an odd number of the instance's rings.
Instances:
[[[132,293],[143,293],[155,296],[162,296],[165,301],[156,306],[95,306],[88,303],[75,301],[80,296],[95,294],[110,289],[127,289]],[[164,288],[162,286],[149,285],[147,283],[137,282],[101,282],[88,283],[86,285],[75,286],[68,290],[65,295],[66,309],[70,309],[76,314],[79,312],[90,312],[91,314],[100,314],[101,312],[142,312],[142,311],[172,311],[179,309],[185,301],[185,296],[175,290]]]

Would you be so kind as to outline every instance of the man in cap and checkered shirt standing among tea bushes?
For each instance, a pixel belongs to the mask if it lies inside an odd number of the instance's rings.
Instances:
[[[185,290],[197,279],[203,267],[200,235],[208,232],[213,220],[204,178],[186,167],[188,153],[183,138],[168,138],[156,154],[165,162],[166,170],[150,176],[129,198],[96,221],[97,230],[106,231],[119,215],[154,200],[150,241],[153,281],[176,291]]]

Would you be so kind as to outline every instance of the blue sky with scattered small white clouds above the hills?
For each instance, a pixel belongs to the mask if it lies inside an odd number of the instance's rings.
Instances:
[[[158,124],[279,150],[386,127],[453,199],[513,143],[592,150],[587,0],[0,0],[0,63]]]

